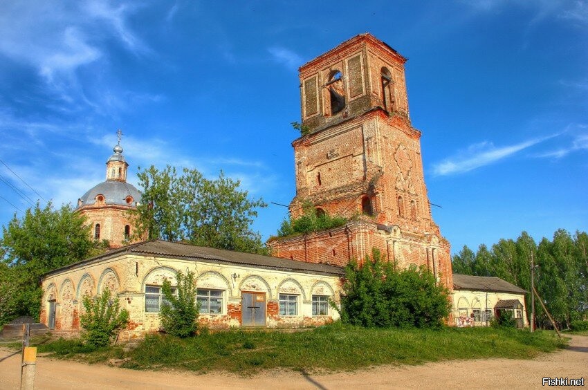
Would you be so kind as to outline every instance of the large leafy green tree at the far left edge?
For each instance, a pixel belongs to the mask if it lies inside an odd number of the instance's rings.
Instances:
[[[37,203],[22,219],[15,214],[8,227],[3,226],[0,248],[5,269],[0,272],[0,286],[16,286],[10,291],[7,304],[12,309],[4,315],[5,321],[19,315],[39,317],[39,277],[45,272],[105,250],[107,243],[91,241],[90,229],[71,205],[55,210],[51,203],[44,208]]]

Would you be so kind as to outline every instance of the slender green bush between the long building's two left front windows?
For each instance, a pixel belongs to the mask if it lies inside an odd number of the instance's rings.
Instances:
[[[189,337],[195,335],[198,330],[194,272],[188,271],[184,275],[178,271],[176,279],[178,280],[177,295],[172,293],[172,284],[169,280],[163,281],[161,290],[167,302],[161,305],[159,313],[161,327],[170,335]]]

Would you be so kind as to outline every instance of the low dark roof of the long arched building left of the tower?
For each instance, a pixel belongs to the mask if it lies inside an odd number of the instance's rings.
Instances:
[[[338,266],[330,266],[322,263],[304,263],[302,261],[279,259],[278,257],[264,256],[195,246],[186,243],[172,243],[164,240],[143,241],[140,243],[126,245],[116,250],[111,250],[99,256],[70,264],[57,270],[49,271],[44,276],[53,275],[65,270],[87,266],[104,259],[111,259],[122,254],[134,254],[138,256],[165,257],[169,259],[188,259],[194,261],[205,261],[208,263],[232,264],[235,266],[249,266],[254,268],[266,268],[286,272],[311,273],[318,275],[333,275],[342,277],[344,269]]]

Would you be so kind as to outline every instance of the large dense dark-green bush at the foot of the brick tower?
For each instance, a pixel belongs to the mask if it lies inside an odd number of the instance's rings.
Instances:
[[[441,326],[450,312],[448,291],[437,286],[432,273],[411,266],[395,270],[374,250],[362,265],[351,261],[341,297],[342,321],[377,327]]]

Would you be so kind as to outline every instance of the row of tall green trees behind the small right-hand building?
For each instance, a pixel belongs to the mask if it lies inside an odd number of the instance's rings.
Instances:
[[[538,244],[527,232],[516,241],[501,239],[492,245],[480,245],[474,254],[464,246],[453,255],[454,273],[502,278],[531,291],[531,255],[535,259],[535,288],[547,310],[559,326],[588,315],[588,234],[557,230],[553,240],[543,238]],[[531,294],[526,295],[526,308],[531,315]],[[550,326],[539,304],[535,304],[539,326]]]

